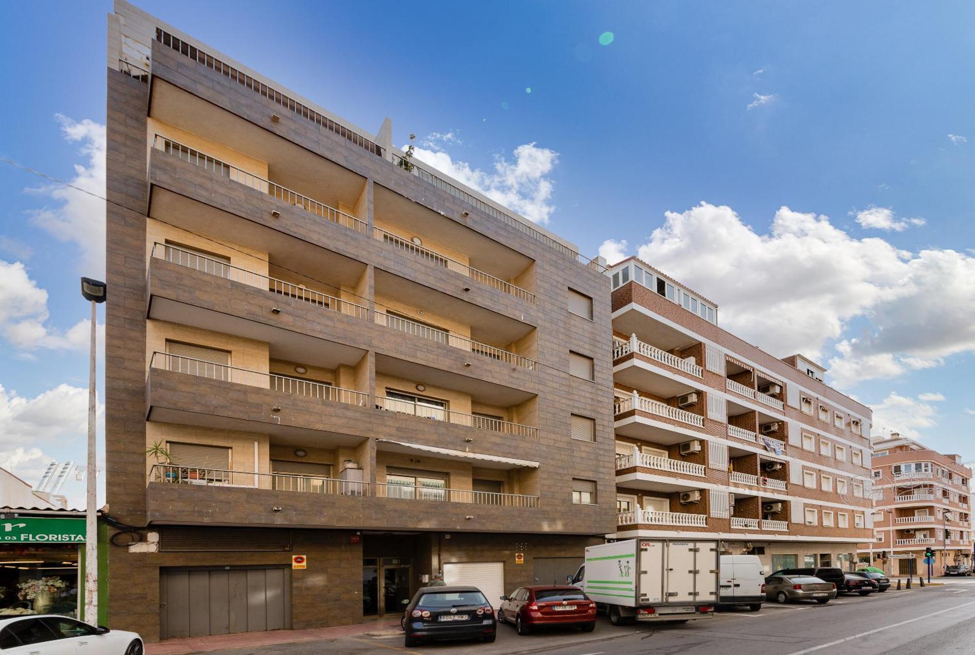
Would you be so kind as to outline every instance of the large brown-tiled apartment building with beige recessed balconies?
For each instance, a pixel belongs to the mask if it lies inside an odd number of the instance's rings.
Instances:
[[[113,627],[496,599],[615,530],[602,266],[122,0],[107,88]]]

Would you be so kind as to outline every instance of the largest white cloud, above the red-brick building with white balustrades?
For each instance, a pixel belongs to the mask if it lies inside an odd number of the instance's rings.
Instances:
[[[665,215],[642,259],[713,299],[722,327],[770,353],[818,360],[836,342],[839,387],[975,352],[975,258],[965,253],[898,250],[788,207],[766,233],[707,203]]]

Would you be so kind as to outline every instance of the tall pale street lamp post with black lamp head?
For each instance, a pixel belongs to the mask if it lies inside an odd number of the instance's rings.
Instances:
[[[98,466],[95,447],[95,334],[98,324],[97,305],[104,302],[108,288],[91,278],[81,279],[81,294],[92,303],[92,336],[88,366],[88,484],[85,498],[85,621],[98,625]]]

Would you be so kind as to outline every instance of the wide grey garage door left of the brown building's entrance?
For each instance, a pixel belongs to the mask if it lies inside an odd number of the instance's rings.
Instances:
[[[291,570],[160,569],[160,637],[227,635],[292,627]]]

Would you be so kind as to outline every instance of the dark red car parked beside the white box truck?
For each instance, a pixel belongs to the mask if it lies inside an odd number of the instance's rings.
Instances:
[[[539,626],[578,626],[584,633],[596,628],[596,603],[577,587],[522,587],[502,596],[498,623],[513,623],[519,635]]]

